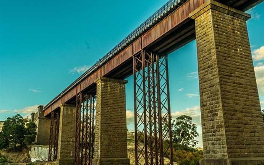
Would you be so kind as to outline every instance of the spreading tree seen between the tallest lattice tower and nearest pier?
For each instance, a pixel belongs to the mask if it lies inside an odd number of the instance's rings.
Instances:
[[[197,127],[193,123],[192,117],[186,115],[179,116],[171,123],[172,141],[184,147],[195,147],[198,142],[195,138],[199,136],[196,129]]]

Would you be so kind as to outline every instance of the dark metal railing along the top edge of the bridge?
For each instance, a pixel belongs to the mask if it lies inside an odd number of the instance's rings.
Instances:
[[[89,75],[94,73],[98,68],[103,66],[106,62],[110,59],[115,57],[120,51],[124,50],[127,45],[131,44],[134,40],[137,40],[144,34],[147,30],[155,26],[157,23],[160,22],[164,17],[169,15],[183,3],[187,2],[188,0],[170,0],[165,5],[163,5],[158,11],[156,11],[152,16],[150,16],[145,22],[143,22],[138,28],[136,28],[132,33],[130,33],[125,39],[123,39],[119,44],[117,44],[111,51],[109,51],[105,56],[99,59],[93,66],[91,66],[86,72],[84,72],[78,79],[76,79],[71,85],[69,85],[64,91],[62,91],[57,97],[51,100],[45,107],[44,110],[57,101],[58,98],[62,97],[66,94],[69,90],[74,88],[79,82],[83,79],[87,78]]]

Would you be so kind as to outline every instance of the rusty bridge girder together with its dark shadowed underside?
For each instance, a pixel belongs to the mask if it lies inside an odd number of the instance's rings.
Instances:
[[[133,74],[132,56],[143,48],[160,54],[169,54],[174,50],[188,44],[196,39],[194,20],[189,18],[189,13],[207,0],[189,0],[182,6],[164,18],[160,23],[143,34],[139,39],[135,40],[131,45],[116,55],[97,72],[83,80],[79,85],[75,86],[68,93],[60,96],[60,99],[53,101],[53,104],[48,104],[44,107],[45,116],[51,111],[59,108],[60,104],[72,104],[76,101],[76,94],[80,91],[94,91],[95,81],[101,76],[125,79]],[[263,0],[218,0],[223,4],[232,6],[236,9],[246,11]]]

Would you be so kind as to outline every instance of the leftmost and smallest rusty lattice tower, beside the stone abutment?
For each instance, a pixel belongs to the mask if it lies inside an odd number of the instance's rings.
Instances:
[[[49,161],[55,161],[58,153],[60,113],[52,111],[50,119]]]

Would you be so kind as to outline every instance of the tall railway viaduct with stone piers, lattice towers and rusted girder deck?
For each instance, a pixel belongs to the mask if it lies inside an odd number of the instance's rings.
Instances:
[[[43,129],[49,160],[129,164],[124,79],[134,75],[136,164],[142,164],[140,159],[146,165],[164,164],[164,155],[171,158],[173,152],[171,129],[163,129],[171,128],[167,55],[196,39],[200,164],[264,164],[264,124],[246,24],[251,16],[244,12],[260,2],[167,2],[41,107],[42,119],[50,120],[50,128]]]

